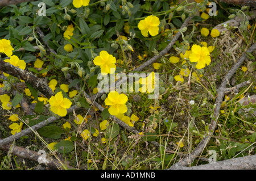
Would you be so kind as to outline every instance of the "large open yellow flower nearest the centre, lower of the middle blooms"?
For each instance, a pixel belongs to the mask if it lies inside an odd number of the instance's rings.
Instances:
[[[128,98],[125,94],[119,94],[117,91],[109,92],[108,98],[105,99],[106,106],[109,107],[110,115],[118,115],[119,113],[125,113],[127,111],[127,107],[125,103]]]

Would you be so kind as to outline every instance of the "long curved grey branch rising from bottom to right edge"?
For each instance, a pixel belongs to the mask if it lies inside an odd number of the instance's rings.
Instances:
[[[199,143],[199,145],[197,145],[197,147],[192,151],[191,154],[187,155],[187,157],[181,159],[181,161],[172,165],[169,169],[180,169],[181,167],[188,166],[190,163],[193,163],[195,158],[203,152],[205,146],[207,146],[210,140],[210,136],[213,134],[214,129],[216,128],[216,123],[218,120],[218,115],[220,113],[221,103],[225,95],[225,90],[226,90],[225,87],[227,83],[230,81],[232,75],[236,72],[236,70],[242,65],[243,61],[246,60],[247,58],[246,54],[254,52],[255,49],[256,49],[256,43],[251,45],[251,47],[242,54],[242,56],[240,57],[240,60],[235,65],[233,65],[232,69],[228,71],[228,73],[225,75],[224,79],[222,80],[222,83],[217,90],[218,95],[215,102],[216,107],[214,108],[214,113],[213,113],[214,117],[209,125],[210,135],[204,137],[203,140],[201,140],[201,142]]]

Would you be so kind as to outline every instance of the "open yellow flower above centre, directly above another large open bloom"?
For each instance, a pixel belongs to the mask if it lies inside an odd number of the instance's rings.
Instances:
[[[112,74],[115,71],[115,57],[109,54],[105,50],[100,52],[100,56],[94,58],[93,63],[99,65],[101,68],[101,73]]]

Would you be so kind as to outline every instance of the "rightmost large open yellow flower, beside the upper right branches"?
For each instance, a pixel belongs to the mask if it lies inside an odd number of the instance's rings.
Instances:
[[[207,47],[200,47],[199,45],[193,45],[192,53],[189,55],[189,60],[191,62],[197,62],[196,68],[202,69],[205,64],[210,64],[210,53]]]

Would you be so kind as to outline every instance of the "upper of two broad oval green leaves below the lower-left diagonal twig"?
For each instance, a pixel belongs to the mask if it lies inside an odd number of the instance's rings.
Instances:
[[[46,138],[59,139],[61,134],[63,134],[63,130],[57,126],[49,125],[38,129],[38,133]]]

